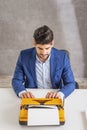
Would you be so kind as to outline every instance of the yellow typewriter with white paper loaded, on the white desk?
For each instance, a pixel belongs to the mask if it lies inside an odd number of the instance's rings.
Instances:
[[[22,98],[20,125],[64,125],[64,105],[57,98]]]

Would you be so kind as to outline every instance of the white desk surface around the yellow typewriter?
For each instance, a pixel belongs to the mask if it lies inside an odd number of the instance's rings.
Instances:
[[[36,97],[43,97],[47,90],[31,90]],[[19,125],[20,102],[13,89],[0,88],[1,130],[87,130],[84,110],[87,108],[87,90],[75,90],[65,100],[65,125],[27,127]],[[37,117],[38,118],[38,117]]]

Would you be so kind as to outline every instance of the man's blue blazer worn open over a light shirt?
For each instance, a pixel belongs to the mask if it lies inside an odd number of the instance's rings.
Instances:
[[[20,52],[12,86],[16,94],[26,88],[37,88],[35,70],[36,49],[30,48]],[[50,58],[50,77],[53,89],[58,89],[67,97],[75,89],[75,80],[69,58],[64,51],[52,48]]]

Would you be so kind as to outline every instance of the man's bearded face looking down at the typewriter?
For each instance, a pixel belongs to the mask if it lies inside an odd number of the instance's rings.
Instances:
[[[49,44],[34,44],[37,52],[38,58],[42,61],[45,62],[45,60],[48,58],[50,55],[51,49],[53,47],[53,42]]]

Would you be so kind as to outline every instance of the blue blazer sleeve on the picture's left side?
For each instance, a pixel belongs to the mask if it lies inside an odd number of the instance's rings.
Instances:
[[[17,95],[19,94],[19,92],[25,90],[25,86],[23,83],[24,83],[24,71],[22,65],[22,55],[20,53],[18,61],[16,63],[14,75],[12,78],[12,87]]]

